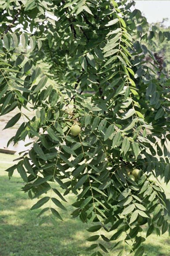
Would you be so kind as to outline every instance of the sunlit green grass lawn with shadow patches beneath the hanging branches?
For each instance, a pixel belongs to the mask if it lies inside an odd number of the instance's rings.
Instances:
[[[64,205],[68,211],[60,211],[64,221],[57,219],[56,225],[49,222],[39,225],[41,219],[37,214],[40,210],[29,210],[36,199],[30,200],[21,191],[24,184],[17,173],[9,180],[4,171],[15,158],[0,154],[0,256],[90,256],[91,252],[86,252],[91,244],[86,241],[90,233],[85,229],[91,225],[70,216],[75,195],[67,196],[68,204]],[[163,187],[170,197],[168,187]],[[168,233],[162,237],[151,235],[144,246],[147,256],[170,256]],[[114,250],[103,255],[117,256],[118,252]]]

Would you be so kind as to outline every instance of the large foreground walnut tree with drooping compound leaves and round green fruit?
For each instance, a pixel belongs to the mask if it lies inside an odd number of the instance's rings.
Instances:
[[[0,3],[0,112],[19,109],[5,128],[23,118],[10,142],[34,138],[8,175],[17,169],[23,191],[41,197],[31,209],[44,206],[42,222],[62,220],[57,208],[66,209],[64,195],[76,194],[72,217],[91,221],[91,233],[100,230],[88,238],[93,256],[108,252],[105,242],[122,243],[119,256],[128,249],[141,256],[143,225],[147,236],[169,228],[170,201],[157,179],[170,180],[169,86],[164,74],[156,79],[145,44],[155,30],[139,10],[130,11],[133,4]],[[24,109],[36,115],[30,120]]]

